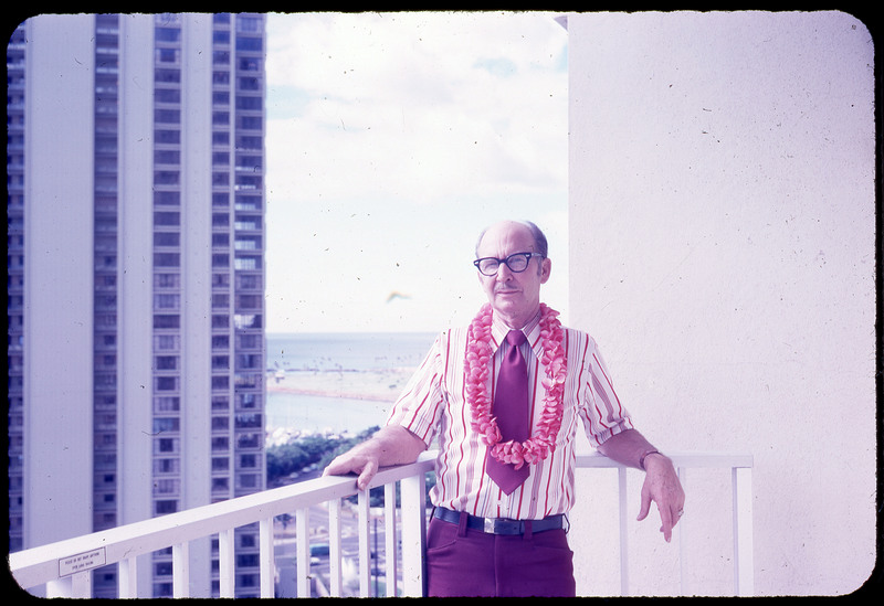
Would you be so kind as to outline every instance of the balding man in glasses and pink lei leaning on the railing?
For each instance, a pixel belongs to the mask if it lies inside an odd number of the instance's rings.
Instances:
[[[684,491],[670,459],[633,428],[592,338],[540,302],[551,267],[540,230],[492,225],[476,257],[488,305],[469,328],[436,338],[386,427],[325,472],[358,474],[365,490],[379,467],[411,463],[438,438],[428,594],[572,596],[565,514],[578,423],[603,455],[645,470],[639,520],[655,502],[666,541]]]

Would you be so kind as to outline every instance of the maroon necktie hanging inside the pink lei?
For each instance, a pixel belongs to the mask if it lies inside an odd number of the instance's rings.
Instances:
[[[494,394],[492,413],[497,417],[497,428],[501,430],[501,442],[525,442],[530,435],[528,422],[528,368],[518,350],[525,341],[520,330],[511,330],[506,336],[509,351],[501,363],[501,374],[497,378],[497,391]],[[514,464],[503,464],[495,459],[488,449],[485,469],[488,476],[509,495],[528,477],[528,464],[515,469]]]

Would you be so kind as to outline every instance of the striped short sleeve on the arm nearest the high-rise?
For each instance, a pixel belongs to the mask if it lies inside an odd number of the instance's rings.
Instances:
[[[444,340],[444,332],[436,337],[387,417],[387,425],[404,427],[428,446],[435,435],[444,400],[442,394]]]

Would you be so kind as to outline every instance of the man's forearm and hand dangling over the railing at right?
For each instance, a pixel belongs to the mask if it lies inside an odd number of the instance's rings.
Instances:
[[[670,458],[657,453],[635,429],[627,429],[608,438],[599,446],[599,453],[617,463],[645,471],[638,520],[648,517],[651,501],[654,501],[663,523],[660,531],[669,542],[672,539],[672,529],[684,511],[684,490]]]

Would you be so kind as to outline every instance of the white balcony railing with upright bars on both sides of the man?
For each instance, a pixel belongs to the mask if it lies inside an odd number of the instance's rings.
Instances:
[[[751,565],[751,467],[753,456],[741,453],[673,453],[669,454],[674,466],[683,475],[690,468],[729,468],[733,474],[733,497],[734,497],[734,556],[735,556],[735,585],[738,595],[751,593],[753,587],[753,565]],[[413,480],[422,478],[423,474],[432,471],[434,468],[436,453],[434,450],[423,453],[415,463],[382,468],[375,476],[369,488],[385,486],[387,497],[391,497],[389,490],[392,485],[400,480],[408,480],[410,483],[408,506],[406,491],[402,493],[402,510],[407,507],[410,510],[423,509],[422,497],[423,482],[419,482],[415,488]],[[577,455],[578,468],[614,468],[619,469],[620,475],[620,519],[621,519],[621,589],[628,594],[628,567],[627,567],[627,538],[625,538],[625,474],[627,468],[599,453],[587,453]],[[684,481],[684,478],[683,478]],[[413,495],[412,495],[413,492]],[[267,489],[254,495],[238,497],[227,501],[202,506],[186,511],[169,513],[159,518],[151,518],[140,522],[117,527],[114,529],[95,532],[82,536],[66,539],[54,543],[28,549],[9,554],[9,566],[12,575],[24,588],[36,587],[42,584],[52,584],[59,580],[65,581],[69,576],[76,577],[77,573],[88,572],[92,568],[122,563],[134,562],[138,555],[151,553],[158,550],[172,547],[219,534],[222,545],[229,540],[232,529],[248,525],[254,522],[262,523],[262,541],[272,541],[272,529],[267,529],[267,521],[285,513],[297,512],[298,515],[312,506],[328,502],[337,502],[339,509],[340,499],[357,495],[354,476],[324,476],[298,483],[293,483],[280,488]],[[368,511],[368,500],[365,493],[360,495],[360,517],[365,517]],[[417,544],[408,547],[411,559],[422,556],[422,532],[423,520],[414,521],[403,517],[403,523],[410,527],[410,535],[419,535]],[[367,522],[362,522],[367,524]],[[305,530],[301,524],[306,522],[298,521],[301,534]],[[683,524],[680,524],[683,527]],[[306,535],[306,533],[305,533]],[[411,540],[410,543],[413,543]],[[404,547],[404,545],[403,545]],[[186,549],[186,547],[185,547]],[[232,547],[230,547],[232,549]],[[365,547],[367,550],[367,547]],[[306,560],[306,545],[298,546],[298,557]],[[222,549],[223,551],[223,549]],[[262,545],[262,595],[271,592],[272,585],[267,573],[264,570],[265,563],[270,561],[272,568],[272,547]],[[232,552],[230,552],[232,553]],[[86,557],[86,564],[77,573],[71,573],[70,568],[63,572],[60,563],[81,554],[98,554],[95,557]],[[365,554],[364,554],[365,555]],[[232,562],[230,555],[222,568],[231,570]],[[269,560],[267,560],[269,559]],[[185,565],[186,566],[186,565]],[[123,568],[122,568],[123,571]],[[128,574],[128,573],[126,573]],[[185,567],[186,574],[186,567]],[[299,573],[301,575],[302,573]],[[411,575],[410,591],[420,586],[420,578],[413,576],[420,573],[409,572]],[[229,575],[230,576],[230,575]],[[306,580],[306,572],[303,573]],[[180,581],[179,581],[180,582]],[[304,583],[306,581],[303,581]],[[366,580],[360,580],[362,585]],[[222,581],[222,587],[225,582]],[[232,583],[228,581],[227,583]],[[302,580],[299,578],[299,583]],[[417,583],[417,585],[415,585]],[[299,585],[299,591],[304,587]],[[232,586],[228,585],[222,593],[231,594]],[[123,594],[123,589],[120,589]],[[127,589],[129,595],[131,589]],[[413,595],[413,594],[412,594]]]

